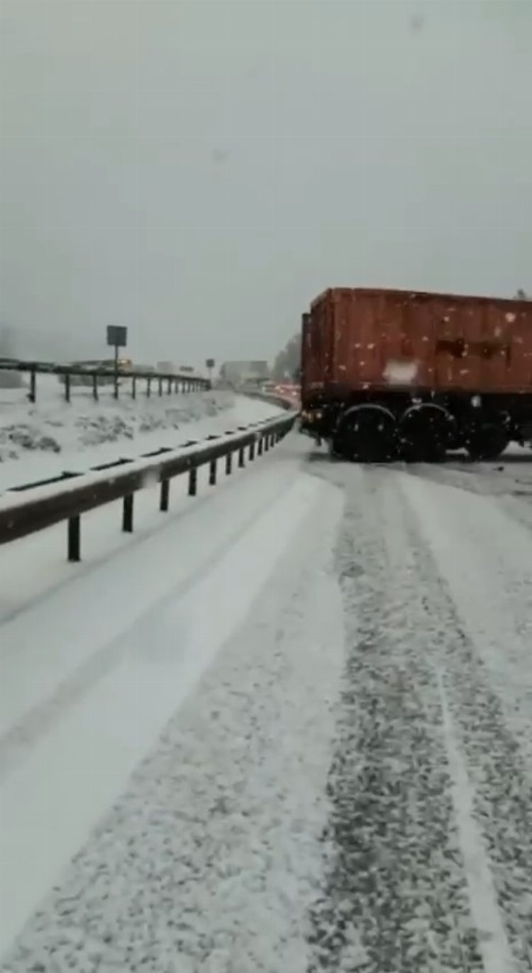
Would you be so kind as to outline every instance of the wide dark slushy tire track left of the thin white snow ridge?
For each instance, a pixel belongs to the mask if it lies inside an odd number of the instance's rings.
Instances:
[[[389,477],[388,471],[383,471]],[[352,646],[309,969],[482,970],[411,551],[378,472],[346,470],[337,567]],[[388,537],[386,531],[389,529]],[[413,582],[413,583],[412,583]]]

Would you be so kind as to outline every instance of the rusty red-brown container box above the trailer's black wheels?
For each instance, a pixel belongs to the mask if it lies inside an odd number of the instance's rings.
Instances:
[[[532,303],[330,290],[304,331],[303,384],[337,390],[532,390]]]

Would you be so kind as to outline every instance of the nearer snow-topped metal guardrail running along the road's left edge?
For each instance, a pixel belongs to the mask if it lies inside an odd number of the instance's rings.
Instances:
[[[160,484],[160,510],[169,508],[170,482],[182,474],[189,476],[189,495],[197,490],[197,471],[208,465],[209,483],[214,486],[218,477],[218,461],[225,458],[226,475],[232,472],[233,457],[243,467],[246,456],[250,460],[269,450],[292,429],[297,413],[266,419],[253,426],[240,427],[228,437],[212,436],[208,444],[183,450],[160,450],[152,460],[144,457],[131,460],[124,472],[114,466],[112,471],[92,471],[74,476],[60,483],[34,486],[20,496],[9,490],[0,496],[0,544],[7,544],[36,533],[55,523],[68,524],[67,552],[70,561],[81,560],[81,517],[89,510],[123,500],[122,529],[133,530],[134,495],[146,486]],[[163,454],[163,458],[161,458]]]

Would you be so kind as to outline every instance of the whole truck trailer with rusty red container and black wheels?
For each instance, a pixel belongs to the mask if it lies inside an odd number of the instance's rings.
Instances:
[[[331,288],[302,315],[301,429],[359,462],[532,439],[532,302]]]

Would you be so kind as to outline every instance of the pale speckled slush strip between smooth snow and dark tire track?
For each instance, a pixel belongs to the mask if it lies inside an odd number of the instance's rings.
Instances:
[[[57,973],[305,973],[344,651],[329,563],[342,500],[329,485],[313,490],[310,516],[246,622],[6,971],[50,960]]]

